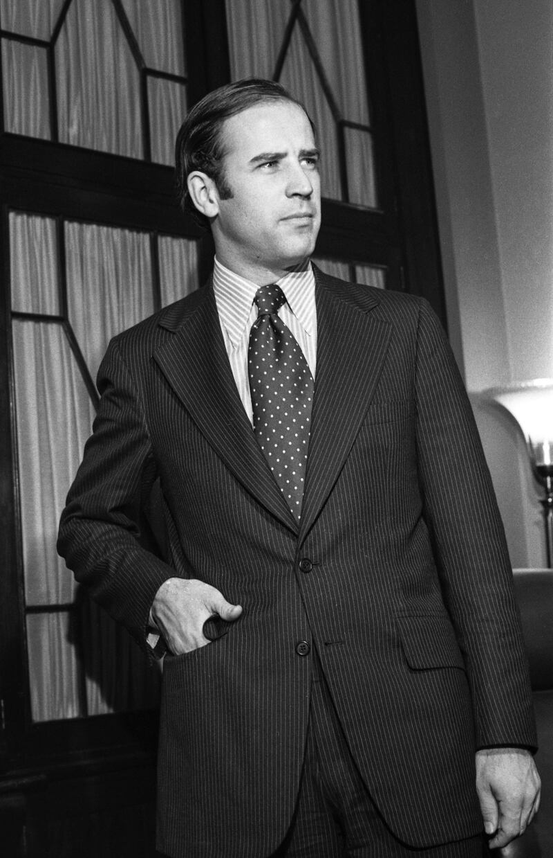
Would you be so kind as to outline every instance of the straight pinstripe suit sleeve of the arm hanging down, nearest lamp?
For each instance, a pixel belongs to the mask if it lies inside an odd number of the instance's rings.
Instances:
[[[491,476],[449,343],[421,302],[419,480],[443,598],[467,666],[477,746],[537,744],[508,549]]]

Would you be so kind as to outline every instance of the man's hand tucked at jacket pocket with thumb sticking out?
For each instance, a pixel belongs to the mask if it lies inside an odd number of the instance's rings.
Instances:
[[[241,613],[240,605],[231,605],[218,589],[196,578],[169,578],[152,603],[152,617],[174,656],[210,643],[203,633],[206,619],[218,614],[232,621]]]

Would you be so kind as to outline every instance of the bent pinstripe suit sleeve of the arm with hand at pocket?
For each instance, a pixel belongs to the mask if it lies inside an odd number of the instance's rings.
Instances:
[[[98,390],[57,550],[92,598],[146,648],[153,598],[175,571],[154,552],[144,515],[156,468],[140,396],[116,341],[98,370]]]

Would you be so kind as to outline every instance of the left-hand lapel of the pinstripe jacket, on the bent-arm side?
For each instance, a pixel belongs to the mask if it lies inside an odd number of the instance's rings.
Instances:
[[[165,378],[200,432],[237,480],[289,529],[297,523],[259,448],[236,390],[211,283],[184,315],[170,310],[162,325],[174,335],[154,353]]]

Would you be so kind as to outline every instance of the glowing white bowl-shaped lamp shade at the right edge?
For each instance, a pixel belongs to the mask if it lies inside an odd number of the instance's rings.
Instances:
[[[536,378],[486,391],[513,415],[525,438],[534,468],[553,467],[553,378]]]

